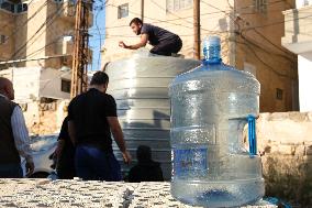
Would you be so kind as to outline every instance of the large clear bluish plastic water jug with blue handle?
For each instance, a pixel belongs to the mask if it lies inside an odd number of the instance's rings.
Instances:
[[[222,63],[211,36],[201,66],[177,76],[171,99],[171,194],[194,206],[237,207],[264,196],[255,119],[260,85]],[[248,124],[249,150],[243,130]]]

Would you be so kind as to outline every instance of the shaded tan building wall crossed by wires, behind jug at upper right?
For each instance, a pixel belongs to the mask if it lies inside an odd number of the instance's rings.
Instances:
[[[260,111],[298,110],[297,57],[281,46],[283,36],[282,11],[292,8],[289,2],[268,1],[266,13],[258,13],[248,6],[248,0],[235,1],[237,15],[236,67],[244,69],[244,63],[256,68],[261,84]],[[293,1],[294,3],[294,1]],[[282,99],[276,97],[277,88],[283,90]]]

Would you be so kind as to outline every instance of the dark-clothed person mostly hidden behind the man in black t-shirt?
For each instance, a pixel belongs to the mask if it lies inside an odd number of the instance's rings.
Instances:
[[[68,134],[68,117],[63,121],[54,156],[56,157],[56,172],[59,179],[76,177],[75,147]]]

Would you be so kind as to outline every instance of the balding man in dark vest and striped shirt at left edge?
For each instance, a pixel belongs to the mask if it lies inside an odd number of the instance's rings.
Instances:
[[[23,177],[21,157],[26,161],[26,176],[34,172],[29,131],[22,109],[13,102],[13,84],[0,77],[0,178]]]

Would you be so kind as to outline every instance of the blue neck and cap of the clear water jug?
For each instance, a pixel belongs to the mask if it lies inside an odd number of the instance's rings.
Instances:
[[[203,65],[221,64],[221,46],[220,44],[209,45],[208,43],[203,46]]]

